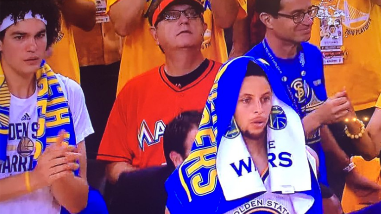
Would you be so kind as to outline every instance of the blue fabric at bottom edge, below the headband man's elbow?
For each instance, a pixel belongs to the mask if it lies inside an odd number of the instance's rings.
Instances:
[[[64,207],[61,214],[70,214]],[[98,190],[90,187],[87,207],[79,214],[108,214],[106,203]]]

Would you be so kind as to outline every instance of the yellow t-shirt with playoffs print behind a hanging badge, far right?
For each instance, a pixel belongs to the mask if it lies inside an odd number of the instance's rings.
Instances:
[[[313,0],[314,4],[320,2]],[[356,111],[374,107],[381,92],[381,7],[371,0],[323,0],[323,3],[344,13],[340,33],[343,64],[325,65],[327,93],[332,96],[345,86]],[[341,27],[338,29],[341,32]],[[320,31],[320,19],[315,18],[310,42],[317,46],[321,43]]]

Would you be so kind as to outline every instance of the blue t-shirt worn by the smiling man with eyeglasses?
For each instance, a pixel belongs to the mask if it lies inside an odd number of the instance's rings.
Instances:
[[[268,47],[267,43],[264,43]],[[274,68],[276,74],[269,78],[279,78],[281,80],[285,90],[288,91],[290,99],[295,104],[295,111],[300,112],[301,119],[318,109],[328,98],[323,73],[323,57],[320,50],[310,43],[302,43],[298,54],[293,59],[278,58],[269,47],[268,50],[274,57],[282,74],[266,52],[263,43],[259,43],[245,55],[264,59]],[[300,54],[304,54],[304,66],[301,65]],[[319,155],[320,182],[328,185],[325,155],[321,147],[320,129],[312,136],[307,136],[306,142]]]

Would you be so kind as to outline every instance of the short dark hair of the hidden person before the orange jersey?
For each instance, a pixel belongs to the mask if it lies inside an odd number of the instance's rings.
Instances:
[[[188,133],[191,128],[198,128],[201,122],[202,114],[197,111],[187,111],[181,113],[173,119],[165,128],[163,137],[164,156],[167,165],[175,168],[169,154],[172,151],[179,153],[185,158],[184,142],[187,139]]]

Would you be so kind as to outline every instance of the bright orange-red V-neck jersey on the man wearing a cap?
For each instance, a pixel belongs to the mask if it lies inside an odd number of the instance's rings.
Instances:
[[[200,77],[183,88],[167,79],[164,66],[129,81],[114,103],[97,159],[141,169],[165,164],[165,126],[182,112],[202,112],[220,67],[210,60]]]

